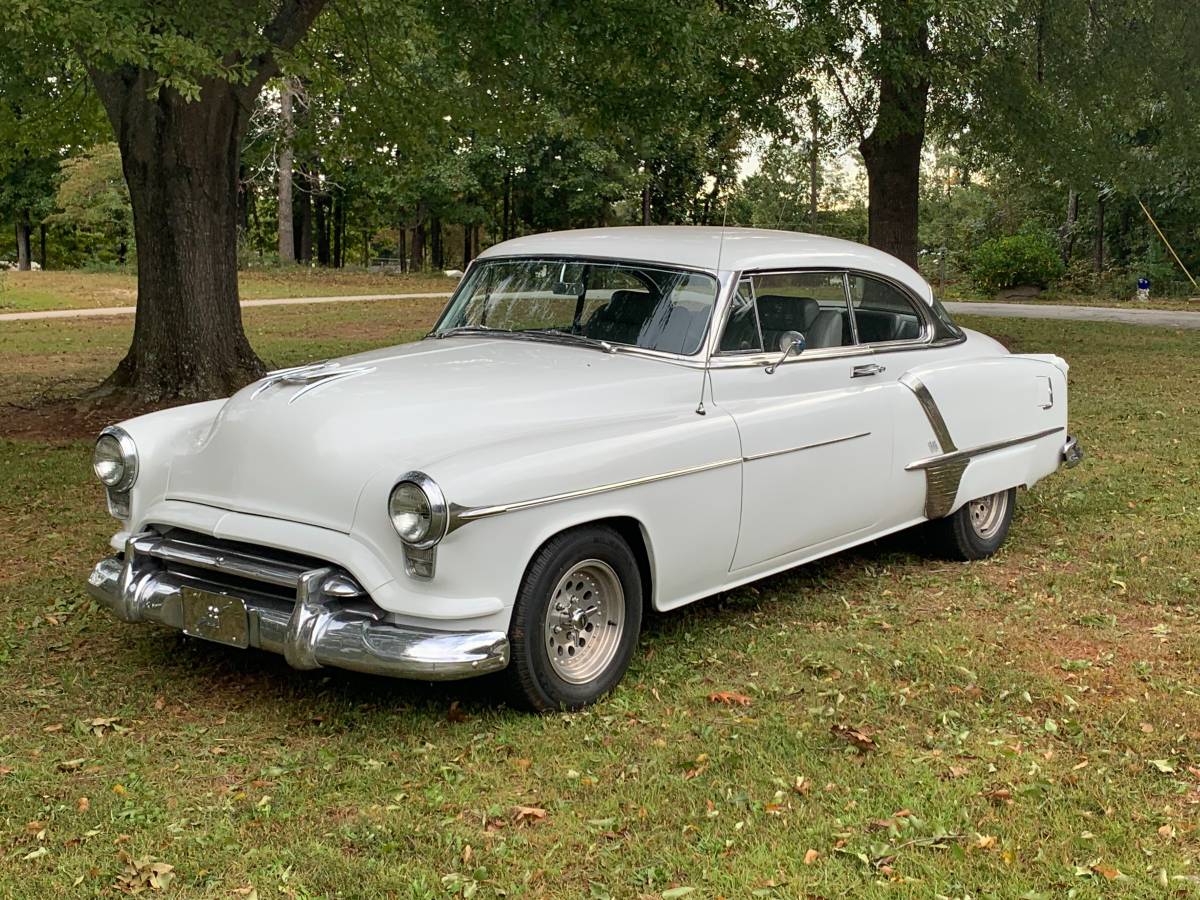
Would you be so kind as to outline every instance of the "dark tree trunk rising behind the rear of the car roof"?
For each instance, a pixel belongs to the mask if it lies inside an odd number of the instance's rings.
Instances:
[[[912,18],[907,4],[896,18],[880,25],[880,41],[892,54],[902,54],[901,72],[884,71],[878,80],[880,108],[875,127],[858,145],[866,163],[868,242],[917,268],[917,214],[920,193],[920,150],[925,143],[929,77],[904,74],[914,66],[925,71],[929,25]],[[907,17],[907,18],[906,18]]]

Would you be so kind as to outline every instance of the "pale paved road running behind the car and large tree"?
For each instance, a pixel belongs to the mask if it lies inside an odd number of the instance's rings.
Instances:
[[[301,304],[350,304],[365,300],[438,300],[446,293],[358,294],[349,296],[287,296],[277,300],[244,300],[246,308],[256,306],[299,306]],[[1072,322],[1120,322],[1127,325],[1200,329],[1200,311],[1141,310],[1108,306],[1066,306],[1040,304],[960,304],[948,302],[950,312],[970,316],[1008,316],[1030,319],[1068,319]],[[83,319],[100,316],[132,316],[132,306],[108,306],[89,310],[43,310],[41,312],[0,313],[0,322],[29,319]]]

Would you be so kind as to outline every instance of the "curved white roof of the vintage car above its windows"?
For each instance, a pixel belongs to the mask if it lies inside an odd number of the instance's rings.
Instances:
[[[514,238],[488,247],[481,259],[506,256],[593,257],[662,263],[708,271],[834,268],[877,272],[932,302],[928,282],[890,253],[863,244],[802,232],[714,226],[580,228]]]

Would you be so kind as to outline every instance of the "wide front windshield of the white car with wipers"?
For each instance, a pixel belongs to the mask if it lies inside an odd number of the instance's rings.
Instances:
[[[716,288],[712,275],[637,263],[486,259],[472,268],[432,334],[496,330],[691,355]]]

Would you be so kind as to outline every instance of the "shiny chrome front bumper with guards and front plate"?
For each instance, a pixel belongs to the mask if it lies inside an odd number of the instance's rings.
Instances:
[[[264,589],[214,586],[203,572],[241,584],[259,582]],[[294,601],[280,588],[294,588]],[[204,623],[188,628],[188,590],[245,604],[246,628],[239,630],[238,641],[220,634],[216,613],[211,635],[203,632]],[[335,566],[305,569],[155,532],[130,538],[124,558],[97,563],[88,578],[88,593],[124,622],[155,622],[197,637],[281,653],[295,668],[331,666],[395,678],[451,680],[509,664],[509,641],[503,631],[437,631],[386,622],[366,592]]]

